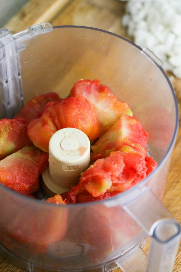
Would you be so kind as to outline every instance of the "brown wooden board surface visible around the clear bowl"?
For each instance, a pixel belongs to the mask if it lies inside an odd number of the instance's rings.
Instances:
[[[4,26],[13,33],[28,26],[50,22],[55,25],[84,25],[101,28],[130,39],[121,24],[125,2],[117,0],[31,0]],[[181,113],[181,79],[167,73],[178,99]],[[181,115],[180,115],[181,116]],[[173,151],[170,171],[167,177],[163,204],[181,223],[181,125]],[[144,246],[148,253],[149,242]],[[181,245],[174,265],[174,272],[181,271]],[[0,257],[0,272],[23,272]],[[121,272],[115,269],[114,272]],[[153,271],[154,272],[154,271]]]

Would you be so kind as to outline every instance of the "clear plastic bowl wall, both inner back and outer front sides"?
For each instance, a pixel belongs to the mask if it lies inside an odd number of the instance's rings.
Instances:
[[[153,199],[140,192],[149,186],[161,199],[176,135],[173,90],[162,69],[128,41],[95,29],[55,27],[24,42],[20,52],[24,102],[34,95],[57,92],[65,98],[82,78],[100,79],[122,101],[149,134],[149,149],[159,164],[138,186],[107,201],[55,206],[0,187],[1,245],[35,271],[85,271],[107,267],[134,246],[145,231],[123,208],[136,207],[151,222]],[[139,201],[140,198],[140,201]],[[150,211],[152,210],[152,213]],[[164,213],[160,218],[164,217]],[[32,268],[27,268],[29,271]],[[101,271],[101,270],[100,270]]]

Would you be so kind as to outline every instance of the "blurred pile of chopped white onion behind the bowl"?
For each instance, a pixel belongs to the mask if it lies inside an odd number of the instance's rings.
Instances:
[[[125,11],[122,24],[128,35],[181,78],[181,0],[129,0]]]

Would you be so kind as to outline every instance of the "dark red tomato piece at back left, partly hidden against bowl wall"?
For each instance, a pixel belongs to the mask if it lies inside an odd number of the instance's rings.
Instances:
[[[32,100],[28,101],[28,103],[22,107],[14,118],[24,118],[29,123],[32,119],[37,118],[45,105],[51,101],[61,101],[61,98],[56,93],[34,96]]]

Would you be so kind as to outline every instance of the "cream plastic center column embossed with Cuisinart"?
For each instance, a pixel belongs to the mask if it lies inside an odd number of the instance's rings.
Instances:
[[[69,191],[76,185],[80,173],[90,163],[90,141],[76,128],[63,128],[49,141],[49,166],[42,174],[43,191],[48,197]]]

